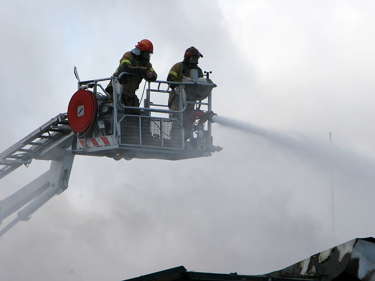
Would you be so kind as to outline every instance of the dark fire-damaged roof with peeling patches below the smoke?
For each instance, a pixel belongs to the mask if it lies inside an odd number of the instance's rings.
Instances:
[[[263,275],[187,271],[184,266],[125,281],[375,281],[375,238],[355,238]]]

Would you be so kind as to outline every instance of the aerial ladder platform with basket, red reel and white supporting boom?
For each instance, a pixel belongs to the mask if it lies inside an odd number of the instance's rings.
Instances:
[[[58,114],[0,153],[0,179],[22,165],[28,167],[33,159],[51,161],[47,172],[0,201],[0,224],[18,211],[0,229],[0,237],[67,189],[75,155],[183,160],[222,150],[212,144],[211,123],[216,114],[211,110],[211,91],[216,85],[209,79],[210,72],[202,78],[192,69],[181,83],[146,80],[144,107],[140,108],[122,103],[121,81],[134,74],[80,81],[75,67],[74,73],[78,90],[67,113]],[[105,81],[112,82],[112,94],[101,85]],[[151,102],[153,94],[171,91],[179,110]]]

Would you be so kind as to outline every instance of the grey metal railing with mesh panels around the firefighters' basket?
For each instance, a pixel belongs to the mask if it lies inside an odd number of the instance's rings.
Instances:
[[[201,83],[201,82],[171,82],[171,81],[161,81],[161,80],[156,80],[156,81],[148,81],[146,80],[146,96],[144,99],[144,107],[140,108],[135,108],[135,107],[128,107],[122,104],[122,95],[123,95],[123,86],[120,83],[121,77],[124,75],[137,75],[133,73],[128,73],[128,72],[122,72],[119,76],[112,76],[108,78],[102,78],[102,79],[95,79],[95,80],[87,80],[87,81],[79,81],[78,82],[78,89],[83,89],[83,88],[93,88],[94,94],[100,98],[100,99],[107,99],[107,100],[112,100],[113,99],[113,107],[114,107],[114,112],[113,112],[113,124],[112,124],[112,132],[113,136],[120,140],[119,144],[129,144],[132,143],[132,145],[136,146],[151,146],[151,147],[161,147],[161,148],[175,148],[175,149],[183,149],[184,148],[184,112],[187,110],[188,105],[196,105],[197,107],[200,108],[201,105],[207,106],[207,111],[211,111],[211,90],[209,90],[208,94],[208,102],[202,102],[202,101],[183,101],[183,95],[182,95],[182,89],[184,86],[187,85],[197,85],[197,86],[206,86],[210,87],[211,89],[213,87],[216,87],[216,84],[213,84],[209,79],[207,81],[210,81],[209,83]],[[208,76],[207,76],[208,78]],[[112,86],[113,86],[113,94],[109,95],[104,87],[99,83],[103,81],[112,81]],[[156,86],[155,86],[156,85]],[[103,93],[98,92],[98,87],[103,91]],[[165,89],[163,89],[163,87]],[[172,87],[175,89],[178,89],[178,92],[180,93],[176,98],[178,98],[178,104],[179,104],[179,110],[170,110],[170,109],[162,109],[163,107],[168,107],[167,105],[163,104],[153,104],[151,102],[151,93],[170,93],[172,90]],[[139,110],[140,114],[142,115],[124,115],[124,110]],[[155,117],[151,116],[152,113],[163,113],[163,114],[168,114],[168,118],[165,117]],[[138,114],[138,113],[137,113]],[[174,117],[174,118],[171,118]],[[145,136],[142,136],[142,122],[146,122],[147,118],[154,118],[152,119],[152,122],[150,121],[150,124],[156,124],[159,123],[160,127],[162,130],[160,130],[159,134],[154,134],[152,137],[152,141],[145,141]],[[133,121],[130,123],[133,124],[133,130],[137,131],[137,134],[139,135],[133,135],[132,137],[128,137],[127,141],[125,141],[125,135],[124,135],[124,130],[125,130],[125,125],[124,123],[126,120],[131,120],[131,119],[137,119],[138,121],[135,124]],[[149,120],[151,120],[149,119]],[[143,121],[145,120],[145,121]],[[170,140],[170,137],[166,138],[165,135],[168,134],[168,131],[163,130],[163,125],[165,122],[169,122],[170,124],[174,124],[173,130],[177,130],[176,128],[180,128],[177,131],[182,131],[178,136],[174,135],[177,137],[177,139]],[[168,123],[168,124],[169,124]],[[167,123],[166,123],[167,124]],[[137,129],[138,128],[138,129]],[[208,128],[208,135],[209,138],[211,136],[211,122],[208,121],[207,124]],[[172,128],[168,129],[169,131],[172,130]],[[151,132],[152,135],[152,132]],[[137,137],[137,140],[135,141],[135,138]],[[134,142],[131,142],[130,139],[133,138]],[[173,139],[173,138],[172,138]],[[165,143],[168,142],[173,142],[174,144],[177,144],[177,140],[179,141],[182,139],[181,146],[180,144],[175,145],[174,147],[166,147]],[[126,143],[128,142],[128,143]],[[151,145],[149,145],[151,144]]]

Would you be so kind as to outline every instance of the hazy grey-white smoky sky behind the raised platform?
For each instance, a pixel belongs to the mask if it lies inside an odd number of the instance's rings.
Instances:
[[[374,1],[3,1],[0,151],[66,112],[74,66],[109,77],[141,39],[159,79],[193,45],[216,113],[307,145],[214,124],[224,149],[208,158],[77,156],[69,188],[1,237],[1,278],[263,274],[375,236],[374,13]],[[0,199],[49,164],[1,179]]]

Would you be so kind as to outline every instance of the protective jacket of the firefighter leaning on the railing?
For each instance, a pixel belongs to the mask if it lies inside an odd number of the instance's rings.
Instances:
[[[146,77],[147,70],[150,70],[154,75],[152,78]],[[119,72],[120,71],[120,72]],[[132,52],[126,52],[120,60],[120,66],[116,69],[113,75],[121,74],[122,72],[134,73],[139,75],[125,75],[120,78],[121,85],[124,85],[124,92],[132,95],[139,88],[142,79],[145,78],[149,81],[155,81],[158,77],[154,68],[149,61],[142,61],[141,58],[133,54]],[[109,83],[112,86],[112,82]]]

